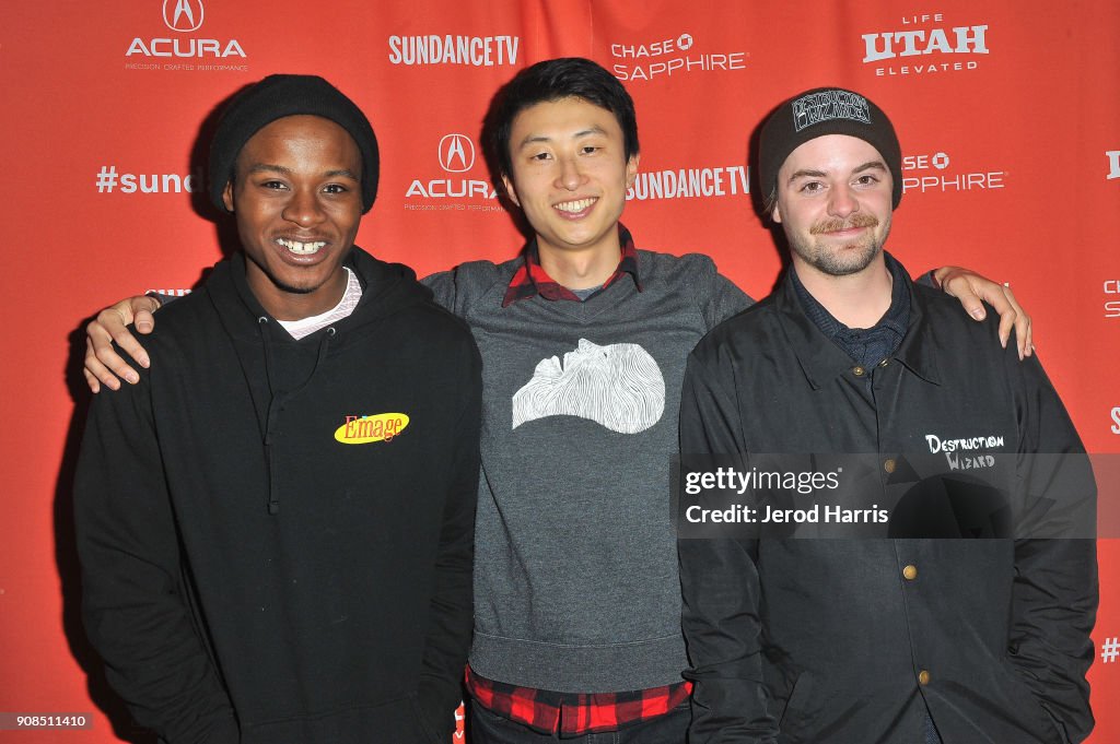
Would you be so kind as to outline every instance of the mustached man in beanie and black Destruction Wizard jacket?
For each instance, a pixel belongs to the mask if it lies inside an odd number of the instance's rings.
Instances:
[[[684,482],[774,462],[759,453],[841,464],[815,473],[815,502],[794,490],[776,512],[755,490],[757,512],[726,512],[740,531],[682,533],[690,742],[1081,742],[1095,544],[1043,538],[1090,537],[1094,492],[1061,401],[1036,359],[884,253],[902,157],[874,103],[797,95],[764,124],[759,160],[792,265],[690,357]],[[829,502],[825,477],[864,508]],[[914,527],[946,539],[812,539]]]

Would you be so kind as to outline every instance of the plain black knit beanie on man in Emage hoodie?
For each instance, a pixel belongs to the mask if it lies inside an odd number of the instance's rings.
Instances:
[[[245,142],[276,120],[299,114],[329,119],[354,138],[362,153],[362,214],[370,211],[377,196],[377,138],[362,110],[317,75],[269,75],[230,102],[211,143],[209,195],[218,209],[226,210],[222,192]]]

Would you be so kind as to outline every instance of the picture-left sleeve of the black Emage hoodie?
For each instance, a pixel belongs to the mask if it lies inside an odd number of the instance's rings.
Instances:
[[[94,397],[75,481],[86,633],[142,726],[170,744],[239,741],[187,606],[149,378]]]

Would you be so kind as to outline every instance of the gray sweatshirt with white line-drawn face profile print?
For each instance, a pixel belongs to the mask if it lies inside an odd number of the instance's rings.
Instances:
[[[610,693],[681,681],[670,464],[688,354],[750,300],[707,256],[638,252],[584,302],[502,300],[521,258],[424,283],[483,356],[470,666]]]

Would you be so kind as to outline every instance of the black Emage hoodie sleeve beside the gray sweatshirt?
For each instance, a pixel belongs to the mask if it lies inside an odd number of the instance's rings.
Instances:
[[[474,630],[475,505],[478,499],[478,432],[482,417],[482,361],[473,340],[457,399],[455,451],[449,453],[451,480],[440,530],[430,624],[424,639],[419,698],[424,717],[440,741],[455,729],[461,700],[463,674]]]

